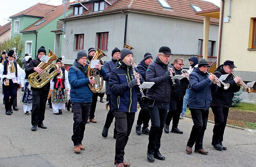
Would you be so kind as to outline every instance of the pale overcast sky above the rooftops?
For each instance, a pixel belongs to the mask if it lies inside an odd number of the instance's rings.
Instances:
[[[71,0],[73,2],[75,0]],[[220,7],[220,0],[205,0],[208,2],[212,2]],[[0,0],[0,25],[3,26],[4,24],[8,23],[9,16],[12,16],[16,13],[19,13],[37,3],[46,3],[51,5],[61,5],[62,0]]]

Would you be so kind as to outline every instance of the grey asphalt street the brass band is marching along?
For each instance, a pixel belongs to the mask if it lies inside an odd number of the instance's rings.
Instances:
[[[18,91],[20,101],[21,91]],[[104,99],[106,102],[106,100]],[[37,128],[31,131],[31,115],[24,115],[23,107],[11,116],[5,115],[1,100],[0,113],[0,166],[109,166],[114,167],[115,139],[112,123],[108,138],[101,132],[105,123],[107,110],[105,103],[98,100],[95,119],[98,123],[85,125],[83,145],[85,151],[73,152],[73,113],[67,110],[62,115],[54,115],[46,105],[44,125],[47,129]],[[184,134],[163,133],[160,152],[166,157],[164,161],[149,163],[146,158],[148,136],[136,135],[135,125],[125,147],[124,159],[132,167],[148,166],[256,166],[256,132],[255,130],[226,127],[223,145],[228,150],[217,151],[211,146],[213,124],[208,123],[204,135],[204,149],[208,155],[185,153],[185,147],[191,128],[192,119],[180,120],[179,129]],[[193,148],[194,149],[194,148]]]

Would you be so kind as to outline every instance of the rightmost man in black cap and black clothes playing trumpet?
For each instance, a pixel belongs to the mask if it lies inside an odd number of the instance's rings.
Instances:
[[[233,78],[231,72],[233,68],[236,68],[234,61],[226,60],[220,65],[214,72],[214,75],[219,78],[221,75],[228,74],[228,77],[223,81],[229,83],[229,88],[224,89],[223,84],[218,88],[217,92],[212,93],[211,108],[214,114],[214,127],[212,136],[212,146],[216,150],[226,150],[227,147],[222,145],[223,134],[228,119],[228,109],[232,105],[232,99],[234,92],[240,90],[240,86],[237,83],[241,82],[240,77]]]

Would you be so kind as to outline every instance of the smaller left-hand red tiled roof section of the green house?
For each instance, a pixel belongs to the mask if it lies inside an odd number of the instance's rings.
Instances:
[[[36,16],[36,17],[44,17],[47,13],[52,11],[56,6],[49,5],[49,4],[35,4],[34,6],[31,6],[30,8],[21,11],[17,14],[14,14],[10,16],[10,18],[17,17],[20,15],[28,15],[28,16]]]

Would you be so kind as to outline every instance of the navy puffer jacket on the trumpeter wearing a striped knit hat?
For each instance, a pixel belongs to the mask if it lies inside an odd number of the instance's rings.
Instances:
[[[210,108],[212,94],[217,91],[218,85],[213,84],[208,78],[209,75],[204,74],[199,68],[195,68],[189,75],[189,109],[204,109]]]

